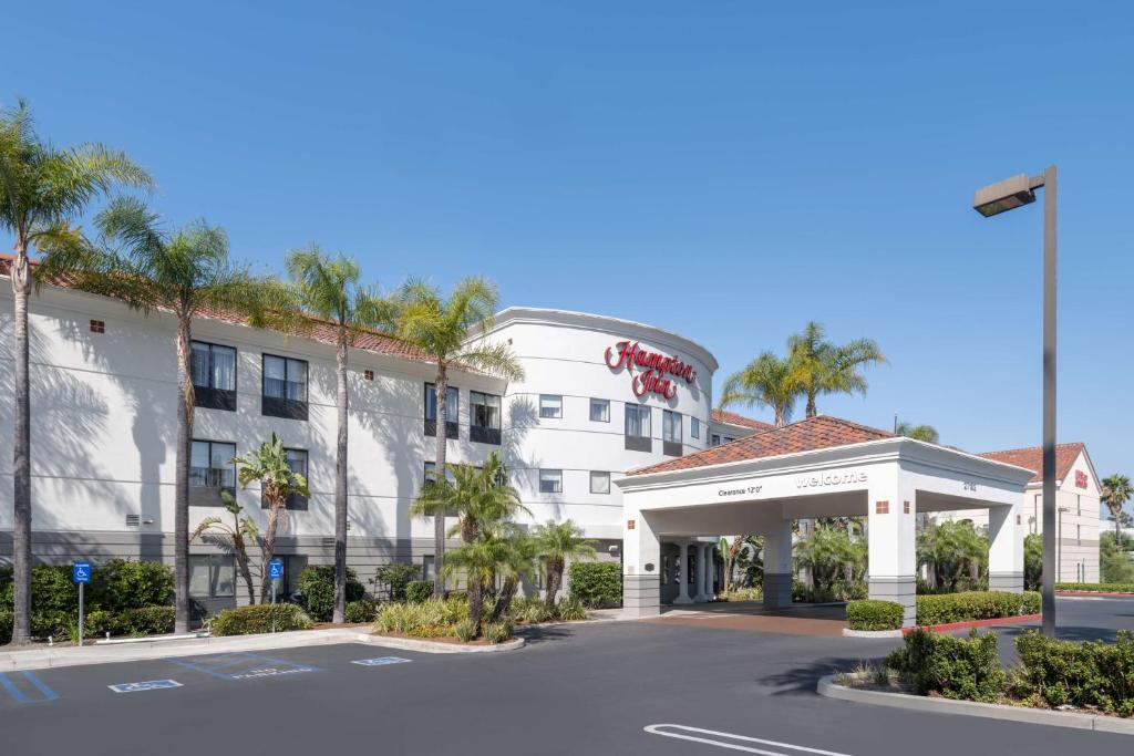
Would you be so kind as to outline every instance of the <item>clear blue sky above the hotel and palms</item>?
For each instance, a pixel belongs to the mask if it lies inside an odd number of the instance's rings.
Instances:
[[[870,335],[890,365],[820,411],[974,451],[1040,441],[1042,227],[972,193],[1056,162],[1059,436],[1134,474],[1123,3],[159,5],[6,8],[0,100],[238,257],[483,273],[686,334],[718,387],[809,318]]]

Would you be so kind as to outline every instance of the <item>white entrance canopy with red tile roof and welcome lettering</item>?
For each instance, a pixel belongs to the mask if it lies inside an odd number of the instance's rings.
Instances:
[[[790,603],[792,521],[865,517],[870,595],[913,622],[917,512],[987,509],[990,581],[1023,589],[1018,510],[1031,470],[819,416],[629,472],[623,491],[624,605],[658,612],[662,540],[764,536],[764,601]]]

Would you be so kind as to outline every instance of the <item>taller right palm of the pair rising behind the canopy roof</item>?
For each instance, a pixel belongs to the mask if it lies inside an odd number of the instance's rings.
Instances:
[[[815,397],[821,393],[865,393],[866,379],[861,369],[886,362],[872,339],[833,345],[824,338],[823,326],[814,321],[789,337],[787,345],[795,380],[807,397],[807,417],[819,414]]]

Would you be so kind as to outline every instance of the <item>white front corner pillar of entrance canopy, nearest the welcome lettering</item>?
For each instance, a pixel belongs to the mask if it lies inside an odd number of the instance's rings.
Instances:
[[[871,482],[866,537],[870,549],[870,597],[892,601],[905,609],[904,627],[917,617],[917,502],[915,490],[902,473],[880,473]]]

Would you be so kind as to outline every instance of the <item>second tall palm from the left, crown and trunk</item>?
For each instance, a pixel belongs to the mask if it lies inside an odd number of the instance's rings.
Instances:
[[[253,326],[282,318],[290,309],[287,292],[272,279],[256,278],[229,261],[228,237],[196,221],[167,230],[158,214],[133,197],[115,199],[95,218],[99,246],[49,252],[40,266],[43,280],[67,274],[71,286],[122,299],[149,314],[172,313],[177,320],[177,441],[174,481],[174,569],[177,580],[177,632],[189,628],[189,450],[194,394],[189,376],[193,320],[223,312]]]

